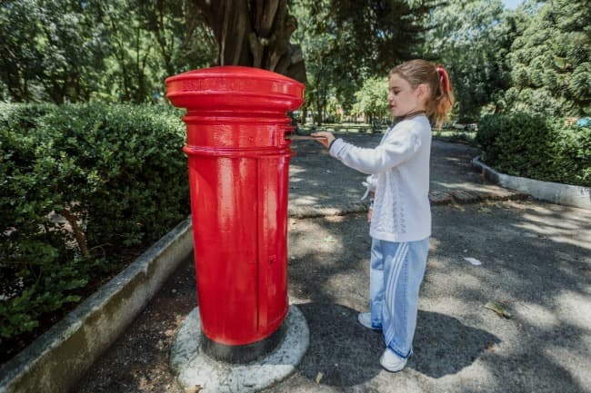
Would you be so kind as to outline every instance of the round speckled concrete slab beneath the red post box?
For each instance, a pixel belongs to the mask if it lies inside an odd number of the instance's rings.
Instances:
[[[248,393],[268,388],[295,371],[309,345],[306,318],[294,305],[289,307],[282,329],[282,340],[265,357],[244,364],[227,363],[205,353],[199,309],[195,308],[175,335],[170,367],[183,388],[199,387],[202,393]]]

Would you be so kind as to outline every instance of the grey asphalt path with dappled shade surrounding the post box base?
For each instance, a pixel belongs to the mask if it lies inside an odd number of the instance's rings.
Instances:
[[[355,212],[363,175],[304,143],[291,168],[289,296],[310,347],[265,393],[591,392],[591,211],[499,201],[523,195],[483,182],[471,148],[434,142],[432,190],[452,199],[433,208],[415,354],[392,374],[378,363],[380,335],[356,323],[368,291],[367,223]],[[195,308],[194,274],[187,260],[74,391],[182,392],[168,349]],[[486,309],[491,301],[511,318]]]

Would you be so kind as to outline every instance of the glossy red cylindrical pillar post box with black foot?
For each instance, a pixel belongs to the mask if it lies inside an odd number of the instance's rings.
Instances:
[[[185,108],[197,298],[204,349],[248,361],[281,339],[287,300],[287,111],[304,85],[221,66],[166,79]]]

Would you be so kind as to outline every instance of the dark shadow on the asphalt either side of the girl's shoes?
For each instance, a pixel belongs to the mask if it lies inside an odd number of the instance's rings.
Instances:
[[[385,348],[380,331],[369,330],[357,322],[357,311],[331,303],[298,305],[310,329],[310,349],[299,371],[334,386],[362,384],[382,370],[379,358]],[[419,310],[416,330],[416,356],[407,368],[441,378],[456,374],[472,364],[486,350],[487,343],[500,342],[485,330],[470,328],[458,319],[437,312]]]

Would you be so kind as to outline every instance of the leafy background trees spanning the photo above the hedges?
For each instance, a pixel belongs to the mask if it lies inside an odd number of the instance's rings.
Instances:
[[[588,0],[7,0],[0,51],[8,102],[158,102],[166,76],[241,64],[306,82],[320,123],[422,57],[446,65],[462,121],[591,113]]]

